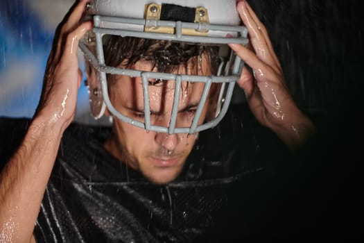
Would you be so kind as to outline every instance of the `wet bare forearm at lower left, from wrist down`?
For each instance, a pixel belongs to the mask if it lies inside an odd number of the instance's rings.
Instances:
[[[23,142],[0,173],[0,241],[29,242],[62,133],[34,119]]]

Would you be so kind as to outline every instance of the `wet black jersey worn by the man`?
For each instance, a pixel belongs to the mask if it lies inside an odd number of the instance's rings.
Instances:
[[[103,146],[110,127],[71,124],[44,193],[37,242],[225,242],[258,232],[275,182],[267,158],[283,146],[240,109],[200,133],[182,173],[168,185],[153,185],[110,155]],[[2,161],[29,122],[1,119],[9,137],[1,142]],[[261,153],[268,140],[276,145]]]

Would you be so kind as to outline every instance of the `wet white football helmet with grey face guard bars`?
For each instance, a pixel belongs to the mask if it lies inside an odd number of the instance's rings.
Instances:
[[[199,75],[188,75],[188,74],[167,74],[162,72],[144,72],[135,69],[123,69],[119,67],[110,67],[105,65],[104,51],[103,51],[103,36],[104,35],[119,35],[121,37],[139,37],[145,39],[155,39],[155,40],[170,40],[173,42],[187,42],[191,44],[211,44],[222,46],[228,43],[238,43],[246,45],[248,44],[248,31],[244,26],[239,25],[227,25],[224,24],[211,24],[214,22],[214,15],[209,12],[209,6],[220,4],[221,2],[227,4],[234,8],[234,13],[236,13],[236,3],[235,0],[229,1],[187,1],[193,3],[194,8],[189,8],[187,6],[177,6],[174,3],[176,1],[163,1],[163,3],[158,3],[158,1],[138,1],[143,3],[144,17],[130,17],[130,12],[124,17],[122,13],[117,13],[117,11],[112,11],[107,15],[107,8],[111,8],[112,3],[121,2],[120,4],[125,4],[126,1],[107,1],[111,5],[102,6],[99,3],[105,1],[91,1],[88,5],[87,17],[93,17],[94,19],[94,29],[92,32],[87,33],[80,42],[79,47],[83,51],[85,58],[91,62],[96,71],[98,72],[99,84],[97,87],[89,87],[90,92],[90,102],[92,106],[92,115],[97,119],[103,115],[105,107],[110,111],[114,117],[121,119],[128,124],[138,126],[139,128],[144,128],[146,131],[156,131],[159,133],[198,133],[200,131],[206,130],[208,128],[214,127],[220,122],[225,116],[229,103],[232,99],[232,93],[234,90],[234,85],[239,79],[241,70],[243,68],[243,61],[230,53],[230,59],[221,62],[220,66],[225,65],[225,74],[221,76],[223,68],[219,68],[220,72],[216,76],[199,76]],[[178,2],[178,1],[177,1]],[[197,3],[196,3],[197,2]],[[129,1],[128,1],[129,3]],[[166,3],[171,3],[167,4]],[[141,3],[140,3],[141,4]],[[201,5],[196,5],[201,4]],[[162,9],[166,6],[167,11],[163,12]],[[225,6],[225,5],[224,5]],[[101,8],[103,7],[103,8]],[[226,6],[225,6],[226,7]],[[173,10],[175,8],[175,10]],[[215,6],[216,8],[216,6]],[[119,8],[118,8],[119,9]],[[130,7],[129,7],[130,9]],[[225,8],[223,8],[225,9]],[[181,21],[171,21],[171,20],[161,20],[161,16],[164,19],[168,19],[171,15],[168,12],[177,11],[183,12],[181,17],[175,17],[177,19],[182,18],[186,21],[193,18],[193,12],[195,12],[195,19],[191,21],[195,22],[181,22]],[[231,10],[227,9],[226,12],[229,14]],[[223,14],[219,12],[219,17]],[[114,16],[110,16],[114,15]],[[126,15],[126,14],[125,14]],[[228,15],[227,15],[228,16]],[[236,16],[235,16],[236,17]],[[238,16],[239,17],[239,16]],[[196,20],[197,19],[197,20]],[[234,22],[229,17],[227,17],[229,23]],[[196,22],[198,21],[198,22]],[[221,21],[220,21],[221,22]],[[226,37],[229,34],[233,37]],[[93,51],[89,49],[88,46],[96,46],[96,56]],[[226,63],[227,62],[227,63]],[[143,95],[144,95],[144,122],[137,121],[122,114],[113,106],[110,101],[107,78],[106,74],[119,74],[126,75],[130,77],[141,77],[143,85]],[[168,126],[157,126],[152,124],[150,121],[150,96],[149,96],[149,83],[150,78],[162,79],[166,81],[174,81],[174,97],[173,97],[173,108],[171,112],[171,119]],[[189,127],[176,127],[177,119],[177,109],[180,103],[180,91],[182,87],[182,82],[200,82],[204,83],[200,102],[198,103],[196,114],[194,115],[191,126]],[[216,112],[216,117],[210,121],[206,121],[203,124],[198,124],[200,121],[200,116],[202,110],[209,96],[210,87],[213,83],[220,83],[223,87],[227,86],[227,89],[222,88],[220,90],[219,101],[218,101],[218,112]],[[101,89],[102,92],[92,92],[94,90]],[[224,94],[224,95],[223,95]],[[91,96],[97,97],[97,102],[93,102]]]

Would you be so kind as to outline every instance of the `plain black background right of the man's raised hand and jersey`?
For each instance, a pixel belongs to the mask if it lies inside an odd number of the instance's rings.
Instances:
[[[295,100],[318,126],[317,140],[292,161],[301,176],[291,188],[297,208],[286,211],[301,220],[295,236],[362,238],[363,1],[250,2]]]

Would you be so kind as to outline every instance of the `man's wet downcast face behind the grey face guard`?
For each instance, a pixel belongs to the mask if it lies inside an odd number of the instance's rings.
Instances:
[[[207,65],[202,67],[204,70],[199,72],[209,75],[209,67]],[[146,61],[137,62],[133,68],[145,71],[152,69],[150,63]],[[181,68],[175,73],[184,74],[186,70]],[[187,73],[193,74],[193,71],[187,69]],[[175,95],[174,85],[175,81],[162,81],[149,85],[151,124],[168,127]],[[115,76],[109,87],[110,100],[116,110],[132,119],[144,122],[141,78]],[[204,83],[182,82],[176,127],[191,126],[204,87]],[[206,104],[208,103],[207,100]],[[205,105],[199,124],[205,120],[207,108],[208,105]],[[146,178],[157,184],[173,181],[180,174],[198,136],[198,134],[168,135],[168,133],[148,132],[126,124],[116,117],[113,128],[114,135],[105,144],[106,148],[121,162],[141,171]]]

